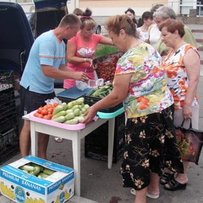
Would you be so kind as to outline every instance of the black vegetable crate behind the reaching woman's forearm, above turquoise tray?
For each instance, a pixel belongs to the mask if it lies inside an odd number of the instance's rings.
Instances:
[[[85,104],[89,104],[90,106],[92,106],[93,104],[95,104],[96,102],[101,100],[101,98],[92,97],[92,96],[89,96],[89,95],[85,95],[84,98],[85,98]],[[123,107],[123,104],[120,103],[120,104],[118,104],[118,105],[116,105],[114,107],[101,109],[100,112],[111,113],[111,112],[117,111],[118,109],[120,109],[122,107]]]

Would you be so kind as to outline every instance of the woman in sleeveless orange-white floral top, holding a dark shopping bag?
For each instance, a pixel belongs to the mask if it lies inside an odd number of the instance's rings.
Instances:
[[[186,43],[182,22],[169,19],[160,25],[162,41],[172,50],[163,61],[168,76],[168,87],[174,98],[174,124],[180,126],[183,119],[192,119],[192,127],[198,129],[199,105],[196,98],[200,77],[200,57],[197,49]],[[188,120],[189,122],[189,120]],[[188,122],[185,122],[189,127]],[[184,163],[184,174],[176,177],[166,173],[161,182],[167,190],[185,189],[188,182],[188,163]]]

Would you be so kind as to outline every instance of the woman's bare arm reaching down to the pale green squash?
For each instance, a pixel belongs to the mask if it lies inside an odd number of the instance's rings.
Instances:
[[[131,74],[116,75],[113,81],[113,90],[108,96],[90,107],[84,123],[91,122],[99,110],[113,107],[123,102],[128,95],[131,77]]]

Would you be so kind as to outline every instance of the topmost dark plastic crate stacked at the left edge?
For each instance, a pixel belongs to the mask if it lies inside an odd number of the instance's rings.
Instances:
[[[0,71],[0,92],[14,87],[13,71]]]

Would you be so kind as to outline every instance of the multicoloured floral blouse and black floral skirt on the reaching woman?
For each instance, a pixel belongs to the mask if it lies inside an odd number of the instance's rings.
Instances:
[[[132,74],[124,101],[127,117],[121,174],[125,187],[136,190],[150,183],[150,171],[161,175],[167,165],[183,171],[173,126],[173,97],[167,87],[161,57],[149,44],[128,50],[115,75]]]

